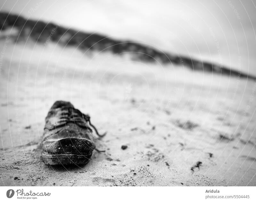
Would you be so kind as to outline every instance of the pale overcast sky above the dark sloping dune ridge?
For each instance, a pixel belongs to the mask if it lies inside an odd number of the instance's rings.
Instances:
[[[249,0],[2,0],[0,8],[30,19],[241,67],[256,75],[255,4]]]

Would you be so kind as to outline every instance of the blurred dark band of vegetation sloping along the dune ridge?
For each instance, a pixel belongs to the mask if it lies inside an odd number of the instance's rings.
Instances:
[[[114,54],[132,53],[135,58],[147,62],[161,62],[163,64],[178,64],[187,66],[193,70],[204,72],[212,72],[224,74],[228,76],[240,76],[255,79],[252,75],[240,73],[236,70],[231,70],[228,67],[220,67],[218,64],[212,64],[196,60],[189,57],[170,54],[158,50],[156,48],[146,46],[144,43],[132,41],[115,40],[104,35],[85,33],[74,29],[60,27],[53,23],[45,23],[43,21],[27,20],[23,17],[14,14],[0,13],[0,28],[1,31],[15,27],[19,30],[16,40],[26,40],[28,37],[35,40],[37,43],[45,43],[49,36],[52,42],[57,42],[62,45],[70,45],[78,47],[82,51],[97,50],[111,51]],[[51,34],[52,33],[52,34]]]

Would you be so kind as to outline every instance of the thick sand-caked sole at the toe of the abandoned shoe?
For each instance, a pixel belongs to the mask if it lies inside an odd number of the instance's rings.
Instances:
[[[85,155],[78,154],[49,154],[42,152],[44,163],[47,165],[82,165],[89,160]]]

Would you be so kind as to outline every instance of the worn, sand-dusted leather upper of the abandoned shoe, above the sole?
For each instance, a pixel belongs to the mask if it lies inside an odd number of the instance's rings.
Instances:
[[[88,115],[70,102],[56,101],[45,118],[43,150],[49,154],[92,154],[95,144]]]

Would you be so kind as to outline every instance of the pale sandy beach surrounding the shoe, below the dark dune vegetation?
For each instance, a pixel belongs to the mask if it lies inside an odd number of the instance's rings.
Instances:
[[[253,80],[10,41],[0,88],[1,186],[256,185]],[[108,132],[86,165],[42,160],[44,118],[60,99]]]

